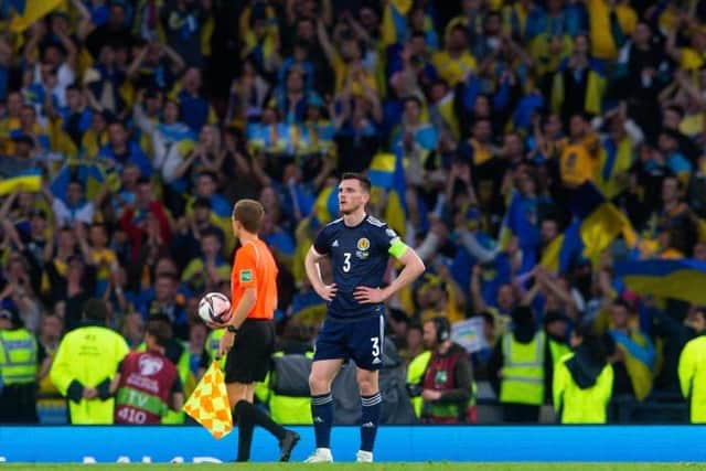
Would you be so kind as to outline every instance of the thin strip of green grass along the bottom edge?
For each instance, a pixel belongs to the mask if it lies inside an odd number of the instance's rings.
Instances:
[[[116,471],[116,470],[145,470],[145,471],[174,471],[183,469],[188,471],[216,471],[224,469],[245,471],[667,471],[667,470],[706,470],[706,463],[461,463],[461,462],[427,462],[427,463],[333,463],[333,464],[303,464],[303,463],[224,463],[224,464],[88,464],[77,463],[31,463],[6,464],[2,471],[46,470],[64,471],[81,470]]]

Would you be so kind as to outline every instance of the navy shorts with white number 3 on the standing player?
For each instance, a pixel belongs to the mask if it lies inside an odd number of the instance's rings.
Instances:
[[[313,361],[353,360],[359,368],[374,372],[383,365],[384,343],[382,315],[351,321],[327,318],[319,331]]]

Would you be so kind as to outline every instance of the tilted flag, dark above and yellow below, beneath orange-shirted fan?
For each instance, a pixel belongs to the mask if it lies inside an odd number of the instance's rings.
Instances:
[[[581,222],[579,233],[584,256],[592,261],[630,226],[625,215],[589,181],[575,190],[569,206]]]

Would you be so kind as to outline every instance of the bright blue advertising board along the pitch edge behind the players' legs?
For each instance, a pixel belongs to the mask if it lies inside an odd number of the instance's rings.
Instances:
[[[313,430],[293,461],[313,449]],[[224,462],[235,459],[234,431],[215,441],[201,427],[0,427],[2,462]],[[376,461],[706,461],[706,426],[387,426],[378,432]],[[333,430],[336,461],[353,461],[357,427]],[[274,461],[274,438],[256,430],[254,461]]]

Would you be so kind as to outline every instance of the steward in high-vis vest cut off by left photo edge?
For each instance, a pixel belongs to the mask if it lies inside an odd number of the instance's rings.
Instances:
[[[0,310],[0,422],[36,424],[36,372],[43,349],[17,312]]]

